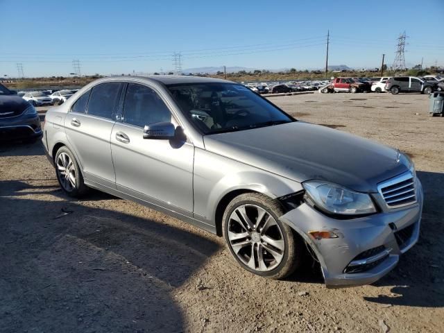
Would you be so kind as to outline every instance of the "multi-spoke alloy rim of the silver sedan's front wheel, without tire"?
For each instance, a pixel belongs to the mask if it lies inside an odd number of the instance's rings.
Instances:
[[[271,271],[284,257],[285,241],[276,220],[264,208],[236,207],[228,221],[228,239],[237,258],[255,271]]]

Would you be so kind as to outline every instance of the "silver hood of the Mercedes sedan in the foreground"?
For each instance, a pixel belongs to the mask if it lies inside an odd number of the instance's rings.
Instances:
[[[204,142],[207,151],[298,182],[327,180],[362,192],[377,192],[378,182],[411,167],[394,148],[302,121],[206,135]]]

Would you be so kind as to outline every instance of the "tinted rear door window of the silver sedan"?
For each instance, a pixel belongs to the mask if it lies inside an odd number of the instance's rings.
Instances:
[[[114,109],[119,103],[122,83],[101,83],[92,88],[87,107],[87,114],[112,119]]]

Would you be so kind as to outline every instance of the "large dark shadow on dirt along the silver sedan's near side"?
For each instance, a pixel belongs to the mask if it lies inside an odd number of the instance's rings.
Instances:
[[[175,291],[220,244],[163,214],[148,219],[98,202],[112,196],[71,199],[49,181],[0,181],[0,327],[182,332]]]

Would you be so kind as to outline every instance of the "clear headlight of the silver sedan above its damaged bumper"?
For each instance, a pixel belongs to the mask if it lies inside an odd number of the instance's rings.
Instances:
[[[375,205],[368,194],[346,189],[341,185],[318,180],[302,184],[314,205],[333,214],[358,215],[376,212]]]

